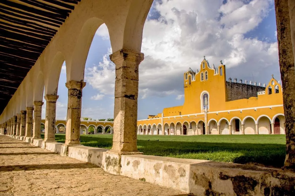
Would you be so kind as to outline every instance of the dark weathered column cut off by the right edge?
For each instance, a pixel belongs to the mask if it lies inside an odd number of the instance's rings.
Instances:
[[[275,0],[275,10],[286,132],[284,166],[295,168],[294,1],[288,6],[288,0]]]

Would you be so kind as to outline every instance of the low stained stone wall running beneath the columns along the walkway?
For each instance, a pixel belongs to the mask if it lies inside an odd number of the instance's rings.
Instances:
[[[43,140],[33,139],[39,146]],[[60,153],[63,143],[46,143]],[[266,167],[208,160],[150,155],[124,155],[109,149],[69,146],[68,156],[90,162],[104,170],[194,195],[295,195],[295,173]]]

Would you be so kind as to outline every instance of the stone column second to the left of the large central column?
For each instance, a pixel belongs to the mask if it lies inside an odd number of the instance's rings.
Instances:
[[[46,100],[44,142],[55,142],[55,115],[58,96],[46,95],[44,98]]]

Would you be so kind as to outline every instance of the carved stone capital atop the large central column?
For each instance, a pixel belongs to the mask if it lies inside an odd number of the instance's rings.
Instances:
[[[140,63],[144,59],[144,54],[123,48],[121,50],[118,50],[117,52],[110,54],[110,59],[114,63],[120,60],[130,60]]]

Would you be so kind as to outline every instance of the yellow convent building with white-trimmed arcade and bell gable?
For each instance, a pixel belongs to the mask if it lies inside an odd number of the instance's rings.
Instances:
[[[211,68],[205,57],[199,70],[183,74],[184,104],[138,120],[137,134],[285,134],[282,88],[273,76],[263,86],[226,81],[222,61]]]

